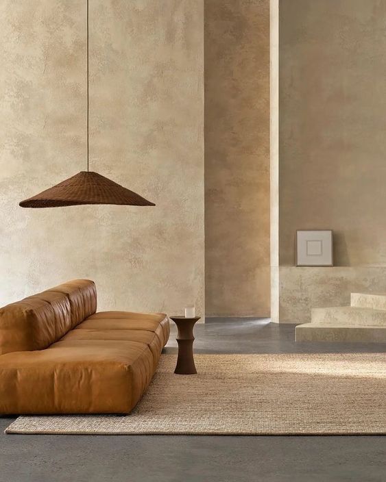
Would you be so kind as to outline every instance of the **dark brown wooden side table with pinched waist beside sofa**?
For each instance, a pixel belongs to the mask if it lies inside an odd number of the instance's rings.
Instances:
[[[178,328],[178,359],[174,373],[178,375],[193,375],[197,373],[193,358],[193,327],[200,320],[200,316],[195,318],[185,318],[184,316],[171,316]]]

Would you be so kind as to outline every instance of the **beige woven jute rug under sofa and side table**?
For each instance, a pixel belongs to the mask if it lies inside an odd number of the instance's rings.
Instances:
[[[162,355],[128,416],[23,416],[6,433],[310,435],[386,433],[383,354]]]

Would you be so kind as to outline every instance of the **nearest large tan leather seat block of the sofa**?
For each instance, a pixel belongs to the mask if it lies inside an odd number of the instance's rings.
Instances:
[[[154,373],[149,347],[126,340],[78,342],[1,356],[1,413],[129,413]]]

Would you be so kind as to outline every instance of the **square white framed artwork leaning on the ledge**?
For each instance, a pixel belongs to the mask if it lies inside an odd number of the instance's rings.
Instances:
[[[333,266],[333,231],[296,231],[296,266]]]

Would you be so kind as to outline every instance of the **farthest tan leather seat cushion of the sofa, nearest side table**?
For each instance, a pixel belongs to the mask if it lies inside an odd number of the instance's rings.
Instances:
[[[162,346],[167,344],[170,334],[169,318],[164,313],[99,312],[88,316],[77,329],[153,331]]]

